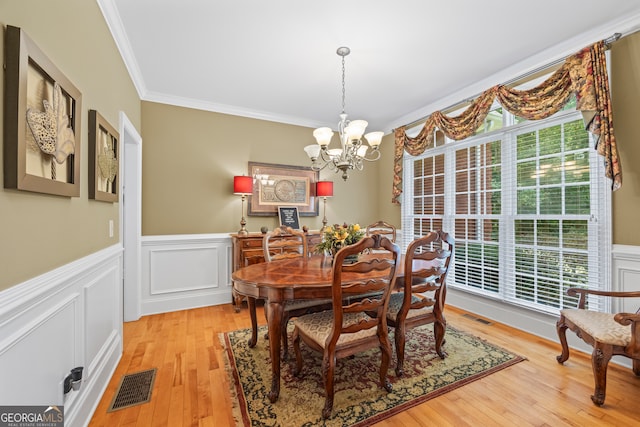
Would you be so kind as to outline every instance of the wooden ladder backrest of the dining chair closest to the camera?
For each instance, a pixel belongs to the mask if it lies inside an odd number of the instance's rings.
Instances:
[[[349,255],[366,249],[374,253],[362,255],[357,262],[344,263]],[[359,242],[340,249],[333,258],[332,304],[334,325],[330,341],[335,345],[341,333],[363,329],[387,328],[385,320],[389,295],[396,279],[400,247],[384,236],[365,236]],[[376,317],[365,316],[375,312]],[[343,318],[362,315],[356,324],[343,323]],[[385,332],[386,334],[386,332]]]

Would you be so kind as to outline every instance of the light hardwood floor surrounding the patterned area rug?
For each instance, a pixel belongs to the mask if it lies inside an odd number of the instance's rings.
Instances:
[[[258,320],[264,323],[262,308],[258,309]],[[487,325],[452,307],[447,307],[446,315],[449,325],[527,360],[378,426],[640,425],[640,378],[630,369],[609,366],[605,405],[596,407],[590,399],[590,355],[573,351],[560,365],[556,362],[560,353],[557,342],[498,323]],[[230,304],[145,316],[125,323],[122,360],[90,426],[234,425],[218,334],[249,326],[247,309],[235,313]],[[153,367],[158,372],[151,402],[107,413],[121,376]]]

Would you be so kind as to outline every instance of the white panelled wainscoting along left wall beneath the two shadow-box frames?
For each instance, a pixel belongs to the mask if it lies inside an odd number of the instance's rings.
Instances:
[[[122,355],[121,266],[116,245],[0,292],[2,405],[64,405],[65,426],[89,423]]]

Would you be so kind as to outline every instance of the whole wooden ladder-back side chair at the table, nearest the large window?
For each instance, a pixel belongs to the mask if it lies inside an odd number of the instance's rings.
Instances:
[[[435,350],[441,359],[447,321],[444,303],[446,277],[453,256],[454,239],[444,231],[431,231],[413,240],[404,258],[404,286],[389,298],[387,324],[395,329],[396,375],[404,374],[407,329],[433,323]]]

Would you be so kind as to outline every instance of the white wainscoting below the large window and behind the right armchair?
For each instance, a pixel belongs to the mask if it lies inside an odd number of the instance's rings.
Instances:
[[[640,246],[613,245],[611,256],[612,290],[640,290]],[[447,304],[558,342],[558,349],[560,349],[556,332],[557,316],[519,308],[454,288],[447,290]],[[635,313],[639,305],[640,299],[632,298],[626,302],[625,307],[614,306],[612,311],[615,313],[624,308]],[[577,338],[575,334],[568,332],[567,341],[570,347],[591,354],[592,348]],[[612,360],[625,366],[631,366],[627,358],[614,356]],[[553,363],[555,363],[555,359]]]

